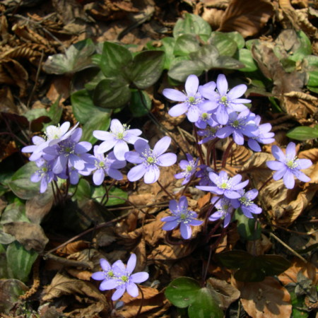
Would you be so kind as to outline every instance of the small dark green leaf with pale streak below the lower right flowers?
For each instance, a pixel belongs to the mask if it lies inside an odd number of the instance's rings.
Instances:
[[[254,218],[247,218],[242,210],[238,208],[235,211],[235,220],[237,220],[237,231],[240,234],[240,237],[245,240],[259,240],[261,238],[261,225],[257,223],[257,228],[255,229],[255,220]]]

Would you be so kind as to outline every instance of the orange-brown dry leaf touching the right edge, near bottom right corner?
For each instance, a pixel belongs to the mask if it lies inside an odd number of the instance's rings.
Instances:
[[[294,259],[290,268],[287,271],[284,271],[280,275],[278,275],[279,281],[283,283],[283,285],[287,285],[289,283],[297,283],[297,275],[299,272],[302,272],[304,276],[309,278],[312,281],[313,285],[317,285],[318,283],[318,272],[316,266],[312,263],[307,262],[304,263],[301,259]]]

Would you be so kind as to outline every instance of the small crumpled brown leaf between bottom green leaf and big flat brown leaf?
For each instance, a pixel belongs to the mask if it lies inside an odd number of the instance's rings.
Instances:
[[[212,295],[218,300],[218,304],[223,310],[226,310],[232,302],[240,298],[240,290],[217,278],[208,278],[206,287],[211,290]]]

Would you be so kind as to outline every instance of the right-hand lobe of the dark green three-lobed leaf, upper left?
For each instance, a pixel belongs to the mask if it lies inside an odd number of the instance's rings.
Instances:
[[[140,52],[134,57],[129,78],[137,88],[148,88],[158,81],[164,63],[165,53],[162,51]]]

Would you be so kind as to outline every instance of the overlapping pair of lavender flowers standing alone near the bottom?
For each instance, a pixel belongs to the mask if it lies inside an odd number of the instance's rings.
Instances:
[[[119,300],[127,291],[132,297],[139,295],[139,290],[136,283],[143,283],[149,278],[146,271],[132,273],[136,267],[136,254],[131,254],[127,261],[127,266],[122,261],[115,261],[110,265],[106,259],[100,259],[102,271],[92,274],[92,278],[100,283],[100,290],[116,289],[112,294],[112,300]]]

